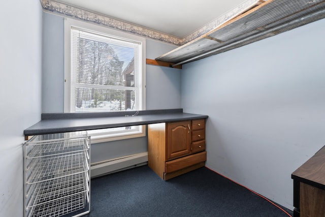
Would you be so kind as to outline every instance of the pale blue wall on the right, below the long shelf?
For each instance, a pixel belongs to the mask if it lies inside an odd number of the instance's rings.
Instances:
[[[290,175],[325,145],[325,19],[183,66],[207,114],[206,166],[293,208]]]

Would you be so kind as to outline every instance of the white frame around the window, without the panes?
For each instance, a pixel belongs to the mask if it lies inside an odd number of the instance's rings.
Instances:
[[[141,81],[141,110],[145,110],[146,105],[146,96],[145,96],[145,87],[146,87],[146,59],[145,59],[145,48],[146,40],[142,37],[135,36],[132,34],[120,32],[108,27],[99,26],[96,24],[83,22],[75,19],[64,18],[64,112],[70,113],[73,112],[71,108],[71,27],[77,27],[79,29],[90,30],[92,32],[97,32],[101,34],[107,34],[119,38],[124,38],[128,40],[134,40],[142,44],[141,48],[141,61],[142,66],[140,67],[139,79]],[[74,99],[73,99],[74,100]],[[136,112],[136,111],[135,111]],[[146,126],[140,126],[139,131],[129,131],[127,133],[109,133],[105,135],[92,134],[91,131],[88,131],[88,134],[91,136],[91,143],[100,143],[108,142],[122,139],[131,139],[137,137],[146,136]]]

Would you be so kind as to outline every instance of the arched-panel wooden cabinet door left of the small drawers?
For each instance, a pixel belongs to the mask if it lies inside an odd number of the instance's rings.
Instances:
[[[167,123],[166,160],[190,153],[190,125],[190,120]]]

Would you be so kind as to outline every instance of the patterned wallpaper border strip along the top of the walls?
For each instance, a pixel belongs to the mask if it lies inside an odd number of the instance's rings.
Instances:
[[[212,20],[211,22],[207,23],[200,29],[184,38],[178,38],[168,34],[160,33],[140,25],[118,20],[109,16],[104,16],[99,13],[67,5],[55,0],[41,0],[41,4],[45,11],[59,14],[61,16],[73,17],[82,21],[101,24],[106,27],[122,30],[123,32],[132,33],[138,36],[180,46],[208,33],[226,21],[233,19],[234,17],[241,14],[245,9],[250,8],[252,5],[256,4],[256,1],[257,0],[246,0],[238,7],[222,14],[221,16],[217,17],[216,19]]]

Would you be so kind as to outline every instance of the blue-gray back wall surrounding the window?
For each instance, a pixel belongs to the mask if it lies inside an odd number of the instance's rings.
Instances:
[[[42,112],[63,112],[63,17],[43,13]],[[175,46],[146,40],[146,58],[154,59]],[[146,66],[146,109],[181,108],[181,70]],[[93,144],[91,162],[147,151],[147,137]]]

